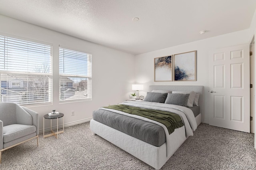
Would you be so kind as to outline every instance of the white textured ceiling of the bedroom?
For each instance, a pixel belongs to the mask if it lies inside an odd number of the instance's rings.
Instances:
[[[255,8],[256,0],[0,0],[4,16],[135,55],[247,29]]]

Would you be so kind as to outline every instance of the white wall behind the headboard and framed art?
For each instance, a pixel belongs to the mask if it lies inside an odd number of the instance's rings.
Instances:
[[[249,44],[249,40],[252,36],[252,31],[242,30],[239,32],[233,32],[222,36],[216,36],[196,42],[186,43],[152,51],[149,53],[143,53],[136,55],[136,83],[144,84],[144,93],[140,92],[140,95],[146,95],[149,85],[203,85],[205,88],[204,99],[205,99],[205,111],[202,115],[204,123],[209,123],[208,105],[209,105],[209,79],[208,79],[208,58],[211,50],[228,47],[240,44]],[[207,33],[206,33],[207,34]],[[204,36],[204,34],[202,34]],[[171,40],[170,40],[171,41]],[[173,55],[177,53],[183,53],[187,51],[197,50],[197,81],[186,81],[186,82],[154,82],[154,58],[162,57],[166,55]]]

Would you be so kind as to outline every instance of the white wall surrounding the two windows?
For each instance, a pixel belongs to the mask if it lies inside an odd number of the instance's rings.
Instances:
[[[70,125],[90,120],[94,110],[109,104],[121,103],[131,93],[131,84],[135,81],[135,71],[131,69],[135,62],[134,55],[6,16],[0,15],[0,23],[0,34],[11,34],[53,44],[53,105],[29,107],[39,113],[40,130],[43,128],[43,116],[52,109],[64,113],[64,124]],[[81,49],[92,54],[92,101],[58,103],[58,45]],[[75,116],[71,116],[71,111],[75,111]],[[49,125],[47,123],[46,128]]]

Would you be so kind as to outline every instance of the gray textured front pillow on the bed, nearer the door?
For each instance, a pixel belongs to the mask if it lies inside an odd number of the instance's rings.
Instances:
[[[168,93],[165,103],[187,107],[188,97],[189,94]]]

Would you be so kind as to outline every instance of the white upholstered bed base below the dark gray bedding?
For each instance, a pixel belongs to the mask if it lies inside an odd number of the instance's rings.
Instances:
[[[173,140],[171,142],[173,146],[172,152],[170,156],[166,157],[166,142],[159,147],[153,146],[114,128],[94,121],[93,119],[90,121],[90,129],[95,134],[98,134],[102,138],[108,140],[112,144],[118,146],[122,150],[128,152],[157,170],[159,170],[167,162],[167,160],[169,160],[172,154],[174,154],[174,152],[186,140],[185,127],[183,126],[175,129],[175,131],[170,134],[173,136]]]

